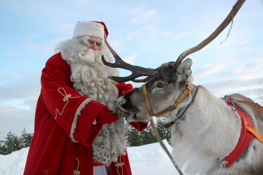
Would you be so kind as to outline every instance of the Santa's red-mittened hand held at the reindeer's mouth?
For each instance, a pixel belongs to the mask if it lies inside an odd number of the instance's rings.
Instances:
[[[111,114],[112,110],[108,108],[103,109],[98,117],[96,118],[96,122],[101,124],[111,124],[112,122],[116,122],[119,118],[118,115]]]

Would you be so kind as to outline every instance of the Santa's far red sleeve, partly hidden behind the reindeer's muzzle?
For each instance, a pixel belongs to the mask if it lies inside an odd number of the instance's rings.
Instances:
[[[118,83],[117,88],[119,89],[119,96],[124,96],[128,93],[131,93],[134,88],[132,87],[132,84],[126,84],[126,83]],[[145,129],[148,125],[148,122],[130,122],[131,126],[137,129],[138,131],[142,131]]]

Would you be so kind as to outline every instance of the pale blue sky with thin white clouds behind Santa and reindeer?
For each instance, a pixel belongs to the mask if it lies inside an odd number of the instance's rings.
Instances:
[[[108,42],[123,60],[157,68],[208,37],[234,3],[0,0],[0,140],[8,131],[20,135],[23,127],[33,133],[41,70],[58,42],[72,38],[78,21],[105,22]],[[262,102],[257,92],[263,82],[263,1],[243,4],[226,39],[229,28],[188,56],[193,60],[193,83],[219,98],[241,93]],[[129,74],[120,70],[120,76]]]

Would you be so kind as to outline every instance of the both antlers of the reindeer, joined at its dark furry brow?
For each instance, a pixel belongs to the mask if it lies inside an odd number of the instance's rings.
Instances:
[[[207,37],[205,40],[203,40],[200,44],[198,44],[198,45],[184,51],[183,53],[181,53],[181,55],[177,58],[175,63],[172,63],[172,62],[165,63],[165,64],[162,64],[157,69],[134,66],[134,65],[130,65],[130,64],[124,62],[118,56],[118,54],[113,50],[113,48],[110,47],[110,45],[106,39],[106,35],[105,35],[105,37],[104,37],[105,43],[108,46],[108,48],[110,49],[110,52],[113,54],[113,56],[115,58],[115,63],[108,63],[104,59],[104,56],[102,56],[102,62],[107,66],[123,68],[126,70],[130,70],[132,72],[132,74],[128,77],[113,77],[112,76],[112,77],[108,77],[108,78],[113,79],[117,82],[127,82],[129,80],[132,80],[133,82],[147,82],[149,79],[152,79],[153,77],[162,77],[166,81],[170,81],[170,80],[174,79],[175,78],[174,72],[176,71],[176,67],[179,64],[181,64],[181,62],[184,60],[184,58],[186,58],[186,56],[204,48],[207,44],[209,44],[211,41],[213,41],[229,25],[229,23],[231,21],[233,23],[233,18],[236,16],[236,14],[238,13],[239,9],[244,4],[244,2],[245,2],[245,0],[238,0],[236,2],[236,4],[234,4],[231,12],[227,15],[226,19],[217,27],[217,29],[212,34],[210,34],[209,37]],[[139,80],[135,79],[135,78],[141,77],[141,76],[149,76],[149,77],[146,77],[145,79],[139,79]]]

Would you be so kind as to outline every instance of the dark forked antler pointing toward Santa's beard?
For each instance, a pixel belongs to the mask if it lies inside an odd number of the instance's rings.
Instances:
[[[110,67],[118,67],[126,70],[130,70],[132,73],[131,75],[127,77],[115,77],[115,76],[110,76],[108,77],[109,79],[113,79],[116,82],[127,82],[130,80],[134,80],[137,77],[141,76],[151,76],[151,77],[161,77],[160,71],[158,69],[151,69],[151,68],[145,68],[145,67],[140,67],[140,66],[134,66],[126,63],[123,61],[120,56],[113,50],[113,48],[110,46],[106,39],[106,35],[104,36],[105,39],[105,44],[108,46],[110,52],[113,54],[113,57],[115,58],[115,63],[109,63],[105,60],[104,56],[101,56],[101,60],[103,64],[110,66]],[[135,80],[135,81],[140,81],[140,80]]]

